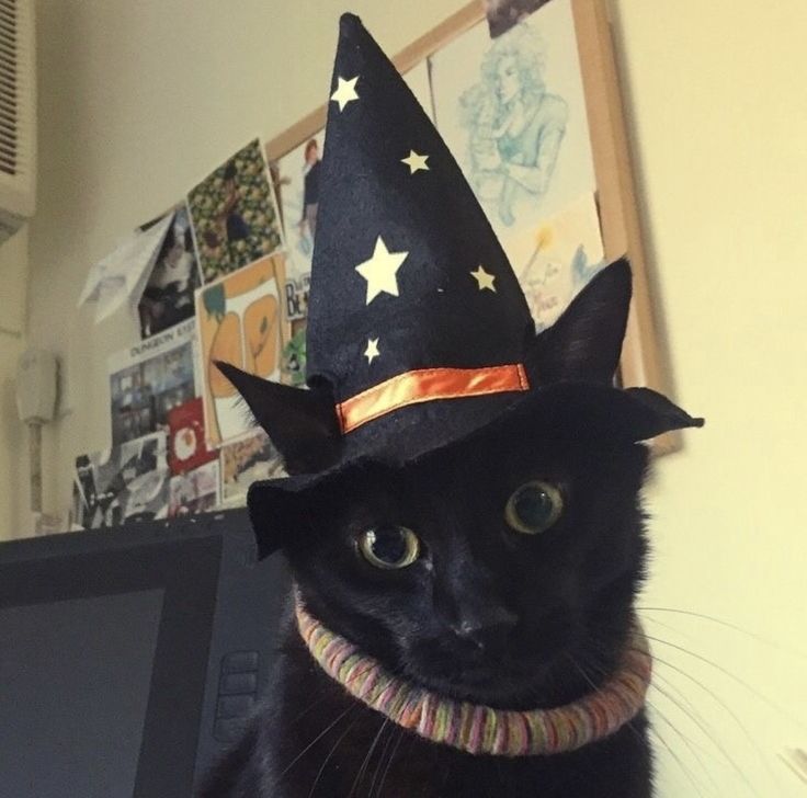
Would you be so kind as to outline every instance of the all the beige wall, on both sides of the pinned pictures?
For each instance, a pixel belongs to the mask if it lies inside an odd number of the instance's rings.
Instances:
[[[396,52],[461,3],[352,7]],[[72,404],[46,436],[46,510],[65,512],[73,457],[107,444],[105,356],[136,330],[125,319],[92,328],[75,310],[88,266],[249,137],[280,132],[322,100],[343,7],[39,0],[42,179],[27,337],[65,358]],[[658,464],[648,491],[657,556],[644,603],[728,618],[805,650],[807,5],[613,8],[675,395],[708,418]],[[0,521],[11,534],[24,528],[26,501],[7,401],[18,347],[0,337],[0,478],[14,497],[0,501]],[[719,661],[805,722],[804,660],[705,619],[647,615],[658,619],[648,620],[655,637]],[[659,743],[661,796],[697,795],[693,782],[703,795],[753,795],[736,770],[757,795],[804,794],[775,760],[785,745],[807,745],[804,728],[690,654],[664,643],[657,653],[669,664],[658,665],[652,700],[672,723],[657,728],[674,752]],[[727,703],[754,742],[674,669]],[[684,721],[674,702],[702,720]]]

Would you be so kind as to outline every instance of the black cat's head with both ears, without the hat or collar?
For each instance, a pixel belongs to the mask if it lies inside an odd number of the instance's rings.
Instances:
[[[533,369],[610,391],[629,294],[625,264],[604,270],[538,337]],[[330,467],[327,399],[228,376],[293,472]],[[554,705],[613,670],[643,578],[647,451],[622,433],[572,390],[401,466],[258,488],[252,520],[311,613],[387,668],[492,706]]]

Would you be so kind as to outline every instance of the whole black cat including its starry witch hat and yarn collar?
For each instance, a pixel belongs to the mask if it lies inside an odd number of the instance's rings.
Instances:
[[[248,503],[296,586],[265,705],[202,796],[650,798],[637,442],[702,421],[613,385],[627,262],[535,333],[352,14],[331,92],[309,390],[219,365],[291,475]]]

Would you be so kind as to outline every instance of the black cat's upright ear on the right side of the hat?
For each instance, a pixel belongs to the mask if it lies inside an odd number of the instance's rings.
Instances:
[[[611,383],[630,307],[625,259],[599,272],[558,320],[536,337],[528,361],[542,383]]]

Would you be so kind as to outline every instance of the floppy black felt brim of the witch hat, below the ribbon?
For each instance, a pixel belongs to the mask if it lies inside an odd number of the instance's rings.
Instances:
[[[458,413],[457,402],[463,412]],[[527,394],[436,400],[402,408],[384,423],[371,422],[345,436],[343,456],[317,474],[300,474],[254,482],[248,494],[260,556],[274,551],[276,540],[260,531],[275,529],[282,537],[287,504],[334,479],[351,466],[414,463],[473,435],[499,425],[536,420],[547,429],[564,430],[575,440],[598,440],[613,445],[648,441],[664,432],[703,426],[677,404],[649,388],[620,389],[592,383],[556,383]],[[389,446],[389,440],[396,442]],[[272,534],[274,537],[274,534]]]

